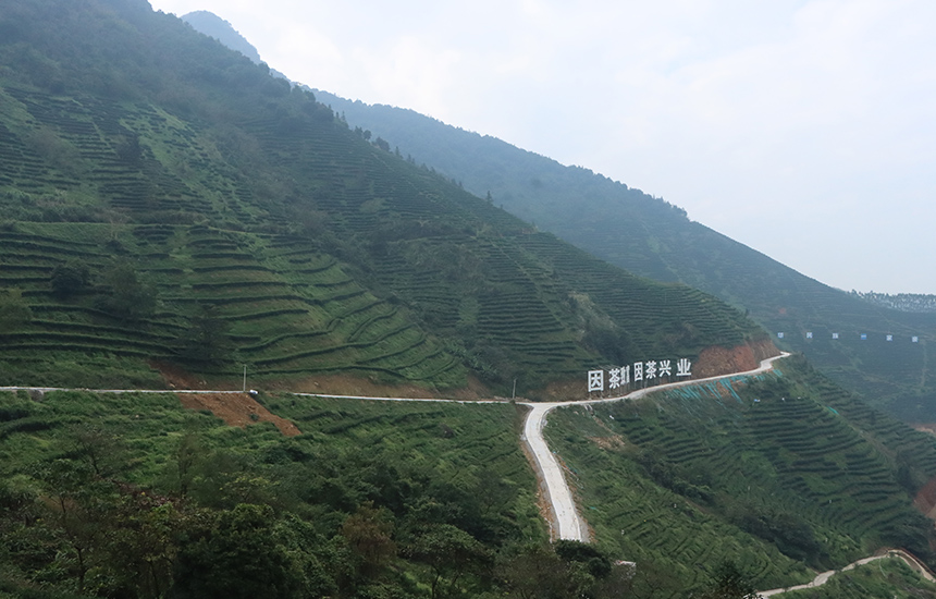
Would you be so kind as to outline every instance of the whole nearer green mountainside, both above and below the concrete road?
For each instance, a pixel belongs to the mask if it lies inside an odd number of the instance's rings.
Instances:
[[[0,383],[72,388],[0,390],[0,596],[650,599],[936,563],[932,437],[801,357],[555,412],[590,545],[549,542],[522,405],[295,393],[579,398],[592,368],[776,354],[368,137],[146,2],[0,0]],[[164,391],[74,389],[103,386]],[[926,596],[891,573],[865,578]]]

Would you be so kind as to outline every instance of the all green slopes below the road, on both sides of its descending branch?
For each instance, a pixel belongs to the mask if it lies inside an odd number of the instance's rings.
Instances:
[[[173,394],[0,393],[0,591],[721,597],[882,546],[934,561],[932,438],[798,360],[554,413],[593,546],[547,543],[520,406],[261,400],[300,435]]]

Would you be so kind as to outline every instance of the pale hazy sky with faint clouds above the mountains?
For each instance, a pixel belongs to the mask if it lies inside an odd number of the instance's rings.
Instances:
[[[664,197],[834,286],[936,293],[932,0],[150,3],[215,13],[294,81]]]

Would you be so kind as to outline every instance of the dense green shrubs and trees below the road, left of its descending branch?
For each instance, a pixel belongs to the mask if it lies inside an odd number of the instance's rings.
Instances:
[[[0,394],[0,597],[669,596],[649,562],[546,542],[521,408],[263,401],[303,433]]]

